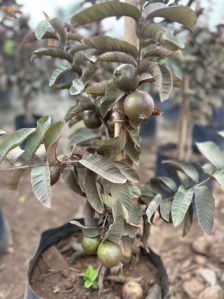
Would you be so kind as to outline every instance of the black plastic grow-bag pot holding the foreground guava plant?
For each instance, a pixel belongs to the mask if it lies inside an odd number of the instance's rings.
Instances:
[[[83,220],[81,220],[80,222],[84,223]],[[31,275],[35,268],[36,262],[38,258],[41,256],[41,254],[48,249],[48,247],[57,244],[62,239],[65,239],[74,233],[79,233],[79,232],[81,233],[81,230],[79,228],[77,228],[76,226],[70,223],[66,223],[63,226],[48,230],[42,234],[38,249],[29,265],[27,288],[26,288],[24,299],[47,299],[35,293],[30,285]],[[167,299],[168,291],[169,291],[168,277],[167,277],[166,270],[163,266],[163,263],[161,261],[161,258],[151,250],[150,253],[143,251],[142,254],[147,255],[149,258],[149,262],[154,264],[154,266],[158,269],[158,272],[161,277],[163,298]]]

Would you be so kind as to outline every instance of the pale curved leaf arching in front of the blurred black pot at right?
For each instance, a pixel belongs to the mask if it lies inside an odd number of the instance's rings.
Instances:
[[[183,161],[166,160],[163,161],[163,164],[167,164],[176,170],[182,171],[187,177],[189,177],[196,183],[199,181],[199,173],[190,163]]]

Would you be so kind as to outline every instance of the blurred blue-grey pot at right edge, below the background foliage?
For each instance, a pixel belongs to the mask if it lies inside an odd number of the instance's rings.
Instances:
[[[212,141],[224,149],[224,138],[218,132],[224,130],[219,125],[195,125],[193,127],[193,150],[198,153],[196,142]]]

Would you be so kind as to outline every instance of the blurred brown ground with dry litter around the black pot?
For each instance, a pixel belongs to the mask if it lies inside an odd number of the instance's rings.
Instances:
[[[162,135],[160,133],[159,136],[163,141],[164,136],[172,140],[173,135],[169,138],[167,130],[163,129],[161,132]],[[153,152],[155,144],[143,154],[142,165],[145,170],[141,176],[144,178],[152,169]],[[146,164],[145,159],[149,156],[150,162]],[[82,211],[83,200],[69,190],[64,190],[62,183],[53,188],[52,209],[43,208],[34,199],[27,180],[20,186],[19,191],[12,193],[4,187],[1,174],[0,206],[12,228],[13,247],[11,253],[0,257],[0,299],[23,298],[28,262],[35,252],[40,234],[48,228],[60,226],[75,215],[80,216]],[[20,203],[21,195],[27,196],[26,203]],[[171,299],[223,299],[223,209],[222,198],[214,232],[210,237],[203,237],[195,223],[190,235],[182,239],[178,230],[156,220],[157,225],[153,226],[150,244],[161,254],[167,267]]]

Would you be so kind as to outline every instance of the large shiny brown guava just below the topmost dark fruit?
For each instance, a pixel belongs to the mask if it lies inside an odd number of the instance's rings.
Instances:
[[[136,90],[124,100],[124,113],[131,124],[147,120],[153,113],[153,98],[145,91]]]

